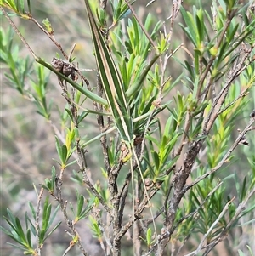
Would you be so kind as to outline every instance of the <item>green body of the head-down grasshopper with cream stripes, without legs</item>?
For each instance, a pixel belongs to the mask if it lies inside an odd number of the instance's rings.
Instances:
[[[122,140],[130,143],[134,139],[134,134],[133,120],[130,117],[129,107],[127,105],[127,96],[122,88],[122,81],[116,70],[116,65],[94,20],[88,0],[84,0],[84,3],[88,13],[96,61],[105,90],[105,96],[111,108],[116,128],[122,136]]]

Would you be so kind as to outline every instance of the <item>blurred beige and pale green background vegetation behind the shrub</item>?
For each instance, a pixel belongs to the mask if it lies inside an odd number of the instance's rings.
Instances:
[[[148,0],[139,0],[134,3],[133,8],[136,10],[139,17],[146,17],[149,13],[155,16],[156,20],[166,21],[169,16],[171,9],[171,2],[168,0],[158,0],[156,5],[150,5],[146,8]],[[201,1],[202,2],[202,1]],[[202,6],[210,12],[210,1],[203,1]],[[184,1],[185,9],[192,10],[192,6],[197,4],[197,1]],[[156,8],[155,8],[156,7]],[[82,0],[69,1],[69,0],[52,0],[42,1],[37,0],[32,3],[32,14],[38,21],[42,21],[46,18],[50,20],[52,26],[55,29],[54,37],[61,43],[65,52],[69,52],[69,49],[73,43],[77,43],[77,47],[73,56],[76,56],[79,62],[80,68],[91,69],[94,68],[94,56],[91,54],[92,42],[89,34],[87,15],[85,14],[84,3]],[[37,26],[32,24],[28,20],[22,20],[17,17],[12,17],[14,23],[19,27],[21,33],[26,38],[27,42],[31,45],[31,48],[36,54],[42,57],[44,60],[50,62],[58,48],[55,47],[46,35],[38,29]],[[179,22],[183,22],[179,16]],[[1,17],[1,30],[8,32],[11,30],[8,21]],[[173,48],[178,46],[181,42],[185,42],[185,45],[189,46],[188,39],[184,37],[183,31],[176,24],[175,31],[173,32]],[[29,55],[27,49],[21,44],[20,39],[14,35],[14,44],[20,45],[19,58],[26,58]],[[191,47],[191,45],[190,45]],[[184,52],[178,54],[185,54]],[[178,56],[179,58],[181,56]],[[31,63],[33,66],[38,64],[34,63],[31,56]],[[170,62],[169,73],[171,75],[179,76],[182,72],[182,67],[177,65],[176,62]],[[33,67],[31,67],[33,70]],[[51,167],[54,165],[54,158],[57,158],[55,150],[55,139],[53,128],[50,123],[46,122],[45,119],[38,115],[36,112],[35,105],[30,99],[21,97],[17,91],[9,86],[7,79],[4,77],[4,73],[8,72],[5,65],[1,63],[1,225],[3,224],[2,216],[6,215],[6,208],[12,209],[12,211],[19,216],[23,216],[23,213],[27,210],[27,202],[36,202],[37,196],[33,189],[33,183],[39,185],[45,178],[50,175]],[[48,98],[53,100],[53,111],[51,120],[59,128],[59,109],[64,109],[65,99],[60,96],[60,88],[57,82],[57,77],[54,74],[47,73],[49,77],[48,82]],[[94,72],[86,73],[86,76],[91,84],[95,84]],[[31,72],[31,77],[35,77],[35,74]],[[92,85],[93,86],[93,85]],[[180,83],[176,88],[176,91],[184,91],[185,88]],[[169,99],[172,95],[169,95]],[[253,92],[250,95],[250,101],[246,104],[246,111],[239,113],[236,117],[236,134],[232,134],[232,138],[229,140],[229,145],[237,136],[237,128],[243,128],[249,120],[249,114],[254,109],[254,98],[255,90],[253,86]],[[59,108],[59,109],[58,109]],[[161,118],[164,118],[162,116]],[[95,129],[96,119],[92,115],[90,122],[84,124],[84,128],[89,130],[89,134],[97,134],[98,129]],[[224,179],[230,174],[236,174],[238,179],[243,180],[246,175],[246,170],[250,167],[247,165],[246,157],[254,155],[254,137],[252,134],[247,135],[250,146],[238,147],[235,151],[235,164],[224,168],[218,172],[218,177]],[[99,146],[94,144],[92,146]],[[98,151],[100,154],[100,151]],[[89,154],[89,152],[88,152]],[[89,165],[98,167],[102,166],[103,163],[98,162],[99,155],[89,154]],[[244,161],[242,161],[244,159]],[[72,173],[69,174],[71,177]],[[95,174],[94,174],[95,175]],[[98,173],[100,176],[100,172]],[[68,179],[68,178],[65,178]],[[100,179],[100,177],[97,177]],[[70,183],[71,186],[75,184]],[[70,187],[70,190],[72,188]],[[229,196],[235,195],[235,187],[229,182],[229,188],[227,188]],[[68,191],[65,191],[68,195]],[[76,195],[68,195],[70,198]],[[254,201],[253,201],[254,203]],[[245,223],[249,219],[254,219],[253,215],[246,216],[242,221]],[[59,230],[59,232],[65,232]],[[89,232],[88,227],[83,230],[84,233]],[[88,236],[88,235],[87,235]],[[90,237],[90,236],[88,236]],[[97,248],[99,245],[96,242],[89,242],[88,246],[92,247],[94,251],[93,255],[97,254]],[[198,237],[199,239],[199,237]],[[224,243],[219,244],[216,249],[209,255],[232,255],[233,250],[230,247],[241,248],[245,250],[246,244],[252,247],[255,252],[255,225],[246,225],[243,228],[235,229],[233,234],[225,240]],[[9,247],[6,242],[8,238],[2,235],[0,250],[3,256],[19,255],[12,247]],[[57,255],[58,250],[63,247],[68,241],[65,240],[64,236],[52,236],[52,240],[45,246],[48,247],[45,255]],[[194,241],[196,243],[197,241]],[[191,247],[191,245],[190,245]],[[189,249],[189,248],[187,248]],[[78,252],[77,252],[78,253]],[[73,251],[72,255],[78,255]]]

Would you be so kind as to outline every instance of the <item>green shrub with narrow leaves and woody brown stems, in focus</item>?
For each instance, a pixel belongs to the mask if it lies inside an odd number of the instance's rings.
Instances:
[[[239,2],[191,9],[173,1],[166,18],[163,1],[150,1],[141,3],[150,9],[141,19],[135,1],[85,0],[79,27],[88,34],[86,9],[93,45],[82,58],[79,45],[67,54],[54,37],[65,28],[54,28],[49,17],[36,20],[35,3],[1,0],[12,26],[0,34],[4,82],[53,128],[56,150],[51,177],[46,171],[44,181],[31,181],[37,202],[29,202],[29,213],[16,217],[7,209],[2,230],[14,247],[44,255],[64,227],[68,243],[52,254],[77,247],[77,255],[207,255],[227,240],[227,253],[241,255],[252,241],[239,244],[238,230],[254,229],[255,19],[254,3]],[[23,36],[15,16],[34,23],[59,49],[51,63],[47,48],[38,57],[27,43],[32,32]],[[14,32],[39,65],[20,58]],[[65,37],[72,38],[70,31]],[[85,226],[91,233],[84,235]],[[89,249],[91,241],[100,252]]]

